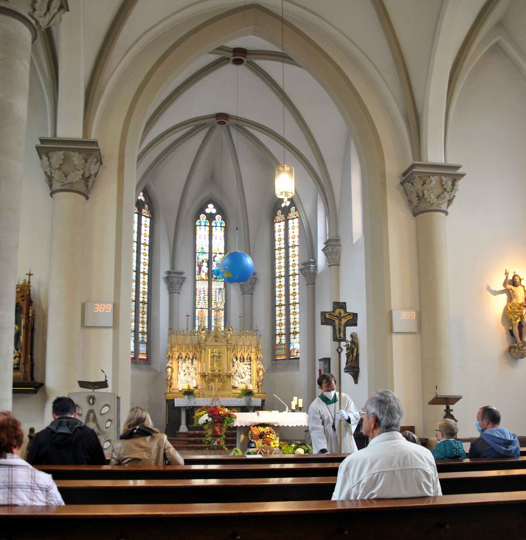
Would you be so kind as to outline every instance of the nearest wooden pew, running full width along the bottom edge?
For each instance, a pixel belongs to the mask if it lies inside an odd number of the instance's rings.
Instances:
[[[2,537],[10,540],[520,540],[526,531],[526,492],[301,503],[0,507],[0,519]]]

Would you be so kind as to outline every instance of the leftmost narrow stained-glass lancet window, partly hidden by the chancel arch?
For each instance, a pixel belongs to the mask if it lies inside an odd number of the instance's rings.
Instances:
[[[131,360],[148,362],[152,205],[142,192],[133,215]]]

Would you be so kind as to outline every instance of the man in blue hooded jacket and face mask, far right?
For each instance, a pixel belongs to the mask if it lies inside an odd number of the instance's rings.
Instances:
[[[501,413],[495,407],[481,407],[477,414],[477,431],[480,437],[469,447],[468,457],[511,457],[520,455],[518,438],[500,427]]]

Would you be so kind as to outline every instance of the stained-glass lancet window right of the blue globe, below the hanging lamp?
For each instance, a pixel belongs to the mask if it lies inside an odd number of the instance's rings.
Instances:
[[[299,217],[278,210],[274,216],[275,359],[300,357]]]

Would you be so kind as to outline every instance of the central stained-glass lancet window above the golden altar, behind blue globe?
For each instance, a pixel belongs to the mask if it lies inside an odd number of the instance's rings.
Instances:
[[[207,203],[195,222],[195,328],[225,329],[224,255],[225,221],[218,206]]]

